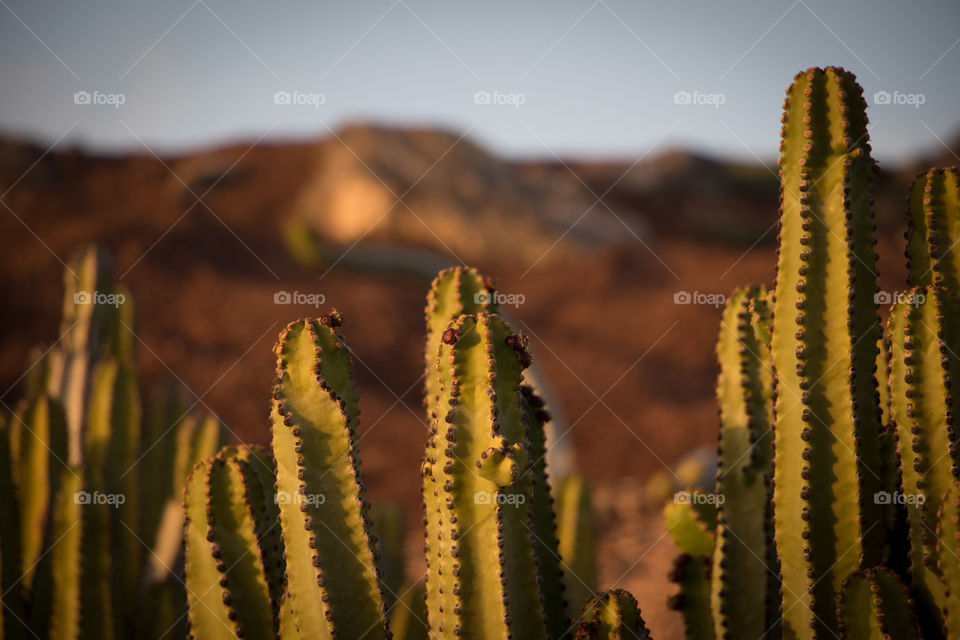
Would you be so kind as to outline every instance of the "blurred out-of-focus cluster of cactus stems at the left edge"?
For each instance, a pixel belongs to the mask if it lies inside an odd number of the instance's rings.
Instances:
[[[141,415],[133,302],[105,253],[79,252],[65,285],[61,337],[0,415],[0,638],[184,637],[178,496],[221,426],[170,385]]]

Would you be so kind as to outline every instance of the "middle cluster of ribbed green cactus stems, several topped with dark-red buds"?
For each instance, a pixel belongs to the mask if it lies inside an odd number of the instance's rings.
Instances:
[[[428,296],[426,579],[405,582],[397,509],[366,501],[332,311],[280,335],[271,450],[226,447],[187,481],[192,637],[649,637],[630,594],[594,592],[589,491],[576,476],[551,487],[528,340],[489,286],[454,268]]]

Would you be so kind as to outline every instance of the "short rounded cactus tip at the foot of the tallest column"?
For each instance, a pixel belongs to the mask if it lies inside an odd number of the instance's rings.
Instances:
[[[852,573],[837,603],[841,637],[849,640],[919,640],[907,588],[885,568]]]

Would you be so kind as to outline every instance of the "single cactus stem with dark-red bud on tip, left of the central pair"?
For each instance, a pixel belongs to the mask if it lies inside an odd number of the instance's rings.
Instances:
[[[304,633],[386,635],[374,538],[357,455],[359,408],[333,312],[294,322],[276,347],[273,454],[296,626]],[[344,560],[346,558],[346,561]]]

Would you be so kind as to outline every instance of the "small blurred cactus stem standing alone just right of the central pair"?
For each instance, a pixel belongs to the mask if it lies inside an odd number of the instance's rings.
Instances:
[[[583,476],[567,476],[557,487],[556,519],[567,615],[575,620],[597,588],[590,484]]]

